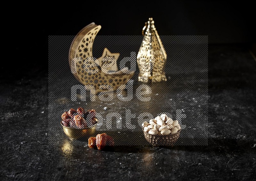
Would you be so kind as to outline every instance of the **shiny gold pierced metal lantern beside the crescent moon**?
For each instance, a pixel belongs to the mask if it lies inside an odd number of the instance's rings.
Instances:
[[[167,55],[156,31],[153,18],[149,18],[145,22],[142,35],[144,37],[137,56],[140,70],[139,81],[145,83],[148,80],[152,82],[166,81],[164,66]]]

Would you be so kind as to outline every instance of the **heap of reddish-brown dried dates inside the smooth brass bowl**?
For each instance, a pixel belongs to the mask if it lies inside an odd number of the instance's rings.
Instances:
[[[77,110],[71,108],[61,115],[61,124],[67,128],[84,129],[98,122],[95,116],[96,111],[94,109],[86,111],[83,107],[78,107]]]

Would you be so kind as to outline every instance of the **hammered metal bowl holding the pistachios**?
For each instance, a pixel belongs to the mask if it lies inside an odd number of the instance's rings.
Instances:
[[[144,132],[144,136],[146,140],[153,146],[172,146],[180,137],[180,131],[174,134],[169,135],[151,135],[147,132],[145,132],[142,128],[142,131]]]

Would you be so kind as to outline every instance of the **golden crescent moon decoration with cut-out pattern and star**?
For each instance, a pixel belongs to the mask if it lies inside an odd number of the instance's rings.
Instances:
[[[99,89],[100,85],[108,84],[113,87],[114,90],[122,84],[126,84],[127,80],[131,79],[134,72],[131,74],[125,74],[124,71],[117,71],[116,61],[119,57],[119,53],[111,53],[107,48],[103,50],[102,56],[98,58],[99,62],[96,66],[91,68],[94,73],[88,73],[84,69],[84,61],[87,61],[89,57],[92,56],[92,45],[95,36],[98,34],[101,26],[91,23],[84,27],[74,38],[70,50],[69,50],[69,66],[71,71],[76,70],[73,75],[76,79],[83,85],[93,85],[95,87],[96,93],[102,91]],[[82,61],[77,61],[77,58]],[[111,62],[111,58],[116,59],[116,61]],[[76,62],[75,62],[76,61]],[[102,66],[110,61],[111,67],[116,67],[116,71],[113,73],[104,73]],[[90,60],[88,61],[90,63]]]

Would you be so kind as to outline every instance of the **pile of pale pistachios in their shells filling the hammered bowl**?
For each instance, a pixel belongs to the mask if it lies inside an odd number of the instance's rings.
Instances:
[[[169,135],[177,133],[181,128],[178,120],[173,121],[166,114],[157,116],[149,122],[142,123],[143,130],[152,135]]]

